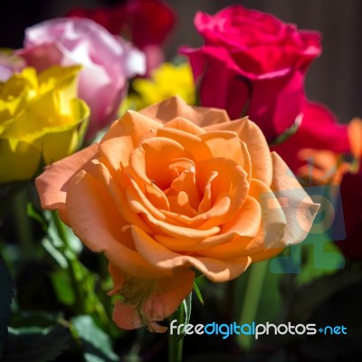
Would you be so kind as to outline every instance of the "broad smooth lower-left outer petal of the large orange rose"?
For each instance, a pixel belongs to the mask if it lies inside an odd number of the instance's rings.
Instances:
[[[107,189],[93,176],[81,171],[71,180],[66,205],[73,232],[91,251],[104,252],[110,262],[130,275],[142,278],[167,275],[122,244],[132,244],[129,233],[122,231],[125,221]]]

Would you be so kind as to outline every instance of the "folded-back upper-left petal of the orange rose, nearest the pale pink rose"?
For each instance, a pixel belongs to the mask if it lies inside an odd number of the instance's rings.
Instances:
[[[100,154],[116,171],[120,167],[127,167],[131,151],[137,148],[143,139],[154,137],[159,127],[162,127],[162,124],[156,120],[129,110],[121,119],[112,123],[101,139]]]

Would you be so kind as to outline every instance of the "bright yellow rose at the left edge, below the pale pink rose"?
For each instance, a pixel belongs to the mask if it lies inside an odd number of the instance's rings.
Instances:
[[[0,184],[33,177],[76,151],[90,114],[77,99],[81,67],[33,68],[0,81]]]

